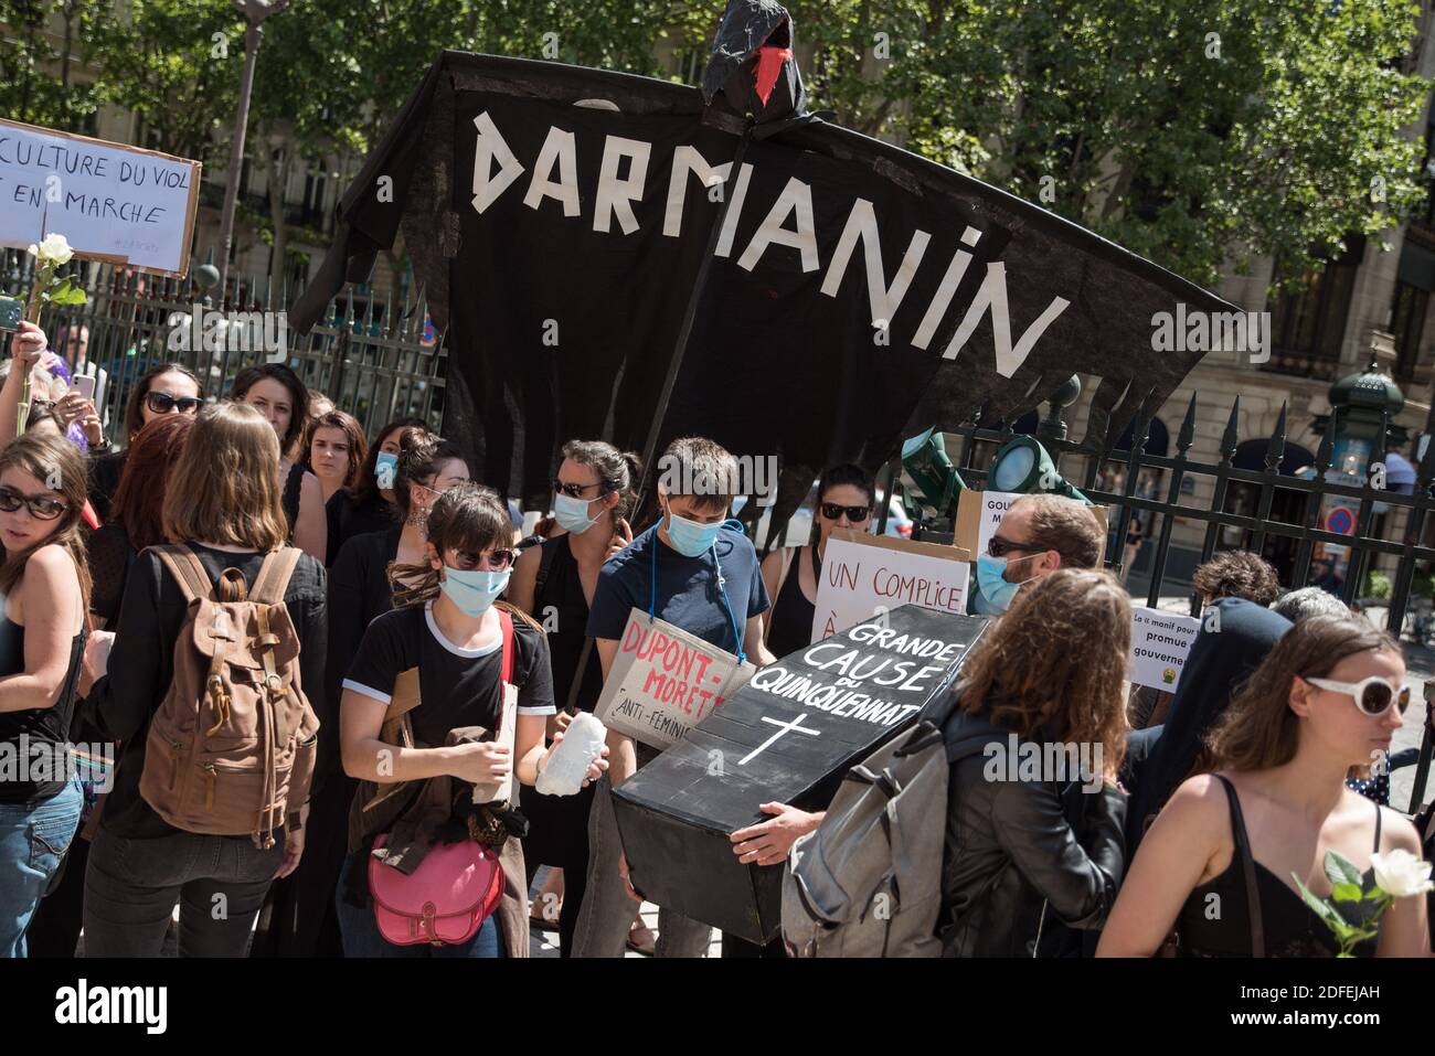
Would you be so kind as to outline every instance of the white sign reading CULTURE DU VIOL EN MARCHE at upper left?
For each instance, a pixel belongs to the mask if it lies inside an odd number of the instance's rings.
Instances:
[[[76,255],[182,277],[199,162],[0,119],[0,245],[62,234]]]

